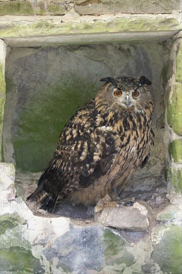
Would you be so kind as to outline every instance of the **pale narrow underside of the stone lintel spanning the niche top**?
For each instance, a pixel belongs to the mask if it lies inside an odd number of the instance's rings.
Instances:
[[[97,33],[80,33],[80,34],[61,34],[61,35],[41,35],[41,36],[23,36],[3,38],[3,41],[10,47],[44,47],[47,46],[65,46],[72,44],[100,44],[100,49],[106,46],[112,46],[123,41],[164,41],[176,35],[178,30],[164,31],[128,31],[128,32],[100,32]],[[45,43],[45,44],[44,44]]]

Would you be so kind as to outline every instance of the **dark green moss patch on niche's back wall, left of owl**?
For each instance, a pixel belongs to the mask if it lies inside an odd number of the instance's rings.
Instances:
[[[72,81],[69,83],[70,79]],[[65,79],[59,86],[55,85],[47,91],[42,88],[24,95],[24,105],[19,102],[17,106],[18,120],[12,121],[14,125],[18,123],[17,132],[12,134],[17,170],[44,170],[65,124],[78,106],[95,96],[98,89],[95,83],[88,84],[85,92],[83,82],[70,75],[68,81]]]

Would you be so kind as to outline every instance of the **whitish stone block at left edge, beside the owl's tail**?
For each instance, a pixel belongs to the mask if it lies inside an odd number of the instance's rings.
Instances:
[[[0,200],[15,198],[15,168],[12,163],[0,163]]]

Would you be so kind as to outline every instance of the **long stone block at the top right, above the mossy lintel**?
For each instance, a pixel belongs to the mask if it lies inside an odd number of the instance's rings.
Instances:
[[[95,15],[109,13],[172,13],[174,9],[180,10],[180,1],[156,0],[122,1],[122,0],[81,0],[74,1],[75,10],[80,15]]]

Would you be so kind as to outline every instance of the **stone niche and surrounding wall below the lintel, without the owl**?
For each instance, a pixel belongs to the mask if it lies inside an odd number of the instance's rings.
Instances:
[[[179,30],[3,40],[1,273],[181,273]],[[24,201],[60,132],[94,97],[99,79],[142,75],[152,82],[155,144],[121,195],[137,196],[133,207],[108,207],[95,216],[91,207],[56,214],[30,209]]]

